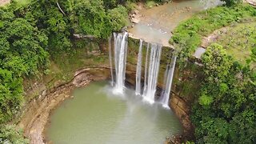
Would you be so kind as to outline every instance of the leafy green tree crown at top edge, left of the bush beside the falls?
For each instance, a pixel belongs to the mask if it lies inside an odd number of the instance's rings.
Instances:
[[[107,26],[106,12],[102,1],[74,2],[70,11],[70,21],[76,33],[91,34],[97,38],[107,38],[111,32]]]

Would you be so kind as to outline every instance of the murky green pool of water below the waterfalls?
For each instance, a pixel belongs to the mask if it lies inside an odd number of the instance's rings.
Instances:
[[[158,144],[180,134],[182,126],[171,110],[150,105],[127,89],[112,94],[109,82],[92,82],[74,90],[50,116],[46,138],[56,144]]]

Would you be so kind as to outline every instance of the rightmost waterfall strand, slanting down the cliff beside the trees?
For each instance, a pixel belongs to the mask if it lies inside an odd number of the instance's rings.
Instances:
[[[170,108],[169,107],[169,98],[170,98],[170,90],[171,90],[171,84],[173,82],[173,77],[174,77],[174,69],[175,69],[175,64],[176,64],[176,59],[177,59],[177,55],[173,54],[172,58],[171,58],[171,62],[167,64],[166,67],[166,74],[165,74],[165,89],[162,93],[161,96],[161,103],[162,106],[166,107],[166,108]]]

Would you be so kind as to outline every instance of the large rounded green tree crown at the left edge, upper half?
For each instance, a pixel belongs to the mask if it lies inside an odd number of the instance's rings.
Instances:
[[[46,65],[48,53],[43,47],[47,37],[30,25],[24,18],[4,22],[0,32],[2,67],[18,76],[35,74],[38,67]]]

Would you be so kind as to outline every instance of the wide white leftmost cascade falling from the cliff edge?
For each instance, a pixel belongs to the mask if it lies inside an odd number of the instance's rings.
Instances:
[[[121,93],[125,87],[126,79],[126,54],[127,54],[127,32],[114,33],[114,67],[115,86],[114,92]]]

